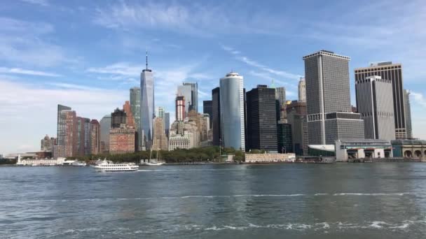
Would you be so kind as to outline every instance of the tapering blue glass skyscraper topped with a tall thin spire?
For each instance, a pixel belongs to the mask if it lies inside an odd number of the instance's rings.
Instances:
[[[152,143],[152,120],[154,117],[154,78],[148,68],[148,53],[146,53],[146,68],[141,73],[141,126],[139,127],[139,144],[149,150]]]

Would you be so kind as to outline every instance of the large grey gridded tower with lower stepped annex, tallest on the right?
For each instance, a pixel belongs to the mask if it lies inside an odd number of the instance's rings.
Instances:
[[[364,138],[364,121],[351,113],[350,58],[320,50],[303,60],[310,145]]]

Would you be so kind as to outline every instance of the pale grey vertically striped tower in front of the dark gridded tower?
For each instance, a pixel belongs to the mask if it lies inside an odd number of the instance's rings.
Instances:
[[[357,110],[364,119],[365,138],[394,140],[392,82],[378,75],[355,80]]]

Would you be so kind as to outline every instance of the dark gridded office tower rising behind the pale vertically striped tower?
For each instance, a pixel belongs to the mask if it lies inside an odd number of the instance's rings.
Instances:
[[[378,75],[383,80],[390,80],[392,82],[392,95],[394,98],[393,108],[395,122],[395,138],[408,138],[404,106],[404,81],[402,77],[401,64],[392,64],[392,61],[389,61],[375,63],[371,64],[369,67],[355,69],[355,81],[364,80],[368,76],[373,75]]]

